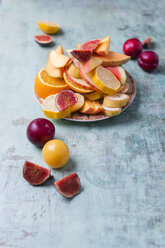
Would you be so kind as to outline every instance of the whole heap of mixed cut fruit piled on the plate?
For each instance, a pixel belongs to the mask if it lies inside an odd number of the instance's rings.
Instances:
[[[35,79],[34,91],[43,99],[45,116],[60,119],[82,114],[120,114],[131,93],[131,83],[122,64],[131,57],[110,50],[110,36],[51,50],[45,68]]]

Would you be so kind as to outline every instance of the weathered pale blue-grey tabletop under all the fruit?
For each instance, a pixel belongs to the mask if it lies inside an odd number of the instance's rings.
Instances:
[[[0,1],[0,247],[165,247],[165,1]],[[53,47],[33,40],[37,21],[54,20],[62,31]],[[51,48],[111,35],[122,52],[131,37],[153,37],[159,69],[125,68],[137,96],[120,116],[90,124],[54,121],[70,161],[52,171],[58,180],[77,172],[81,193],[59,195],[53,180],[33,187],[22,177],[25,160],[46,167],[41,150],[26,138],[28,123],[44,117],[33,94],[34,78]]]

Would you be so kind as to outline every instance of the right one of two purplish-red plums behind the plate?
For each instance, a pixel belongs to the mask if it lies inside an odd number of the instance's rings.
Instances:
[[[159,57],[153,51],[145,51],[140,54],[138,64],[143,70],[151,72],[158,67]]]

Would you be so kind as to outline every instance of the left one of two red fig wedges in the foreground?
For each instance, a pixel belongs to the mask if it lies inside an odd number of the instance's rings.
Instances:
[[[50,170],[26,161],[23,167],[23,177],[32,185],[40,185],[50,178]]]

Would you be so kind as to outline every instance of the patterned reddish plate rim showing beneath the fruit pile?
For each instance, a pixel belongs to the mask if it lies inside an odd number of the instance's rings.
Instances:
[[[132,104],[132,102],[136,96],[136,83],[135,83],[133,77],[130,75],[130,73],[129,72],[126,72],[126,73],[127,73],[127,81],[131,85],[132,90],[131,90],[131,93],[129,93],[130,99],[127,102],[127,104],[123,107],[121,113]],[[35,94],[35,96],[36,96],[38,102],[40,104],[42,104],[43,99],[41,97],[39,97],[37,94]],[[89,115],[89,114],[81,114],[79,112],[75,112],[71,116],[69,116],[67,118],[63,118],[63,119],[69,120],[69,121],[77,121],[77,122],[94,122],[94,121],[106,120],[106,119],[109,119],[112,117],[114,117],[114,116],[106,116],[105,114]]]

